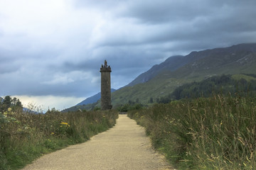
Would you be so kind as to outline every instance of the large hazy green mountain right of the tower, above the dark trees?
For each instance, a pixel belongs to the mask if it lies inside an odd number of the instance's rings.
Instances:
[[[112,94],[112,105],[149,103],[171,94],[182,84],[221,74],[255,74],[256,43],[233,45],[169,57]]]

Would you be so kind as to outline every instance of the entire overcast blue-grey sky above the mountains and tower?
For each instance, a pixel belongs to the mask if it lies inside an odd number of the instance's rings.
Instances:
[[[0,0],[0,96],[63,110],[172,55],[256,42],[255,0]]]

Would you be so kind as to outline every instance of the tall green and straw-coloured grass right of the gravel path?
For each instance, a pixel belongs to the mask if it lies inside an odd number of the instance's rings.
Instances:
[[[130,111],[179,169],[256,169],[256,98],[173,101]]]

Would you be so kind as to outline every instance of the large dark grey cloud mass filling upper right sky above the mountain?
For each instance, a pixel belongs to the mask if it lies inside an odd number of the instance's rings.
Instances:
[[[170,45],[169,51],[174,51],[176,46],[189,42],[191,47],[183,48],[188,51],[247,42],[255,40],[254,6],[255,1],[129,1],[127,8],[117,10],[113,17],[133,18],[134,24],[142,29],[130,29],[130,35],[113,29],[109,35],[115,34],[114,38],[103,38],[100,44],[135,46],[169,42],[175,47]],[[195,47],[200,42],[201,47]]]

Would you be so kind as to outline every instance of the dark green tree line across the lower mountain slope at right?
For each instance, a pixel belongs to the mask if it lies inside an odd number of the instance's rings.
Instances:
[[[256,77],[255,74],[246,74],[250,77]],[[251,79],[233,79],[232,75],[221,75],[210,77],[203,81],[183,84],[176,88],[171,94],[156,98],[157,103],[169,103],[172,100],[181,98],[198,98],[210,97],[213,94],[235,95],[240,96],[256,94],[256,80]]]

